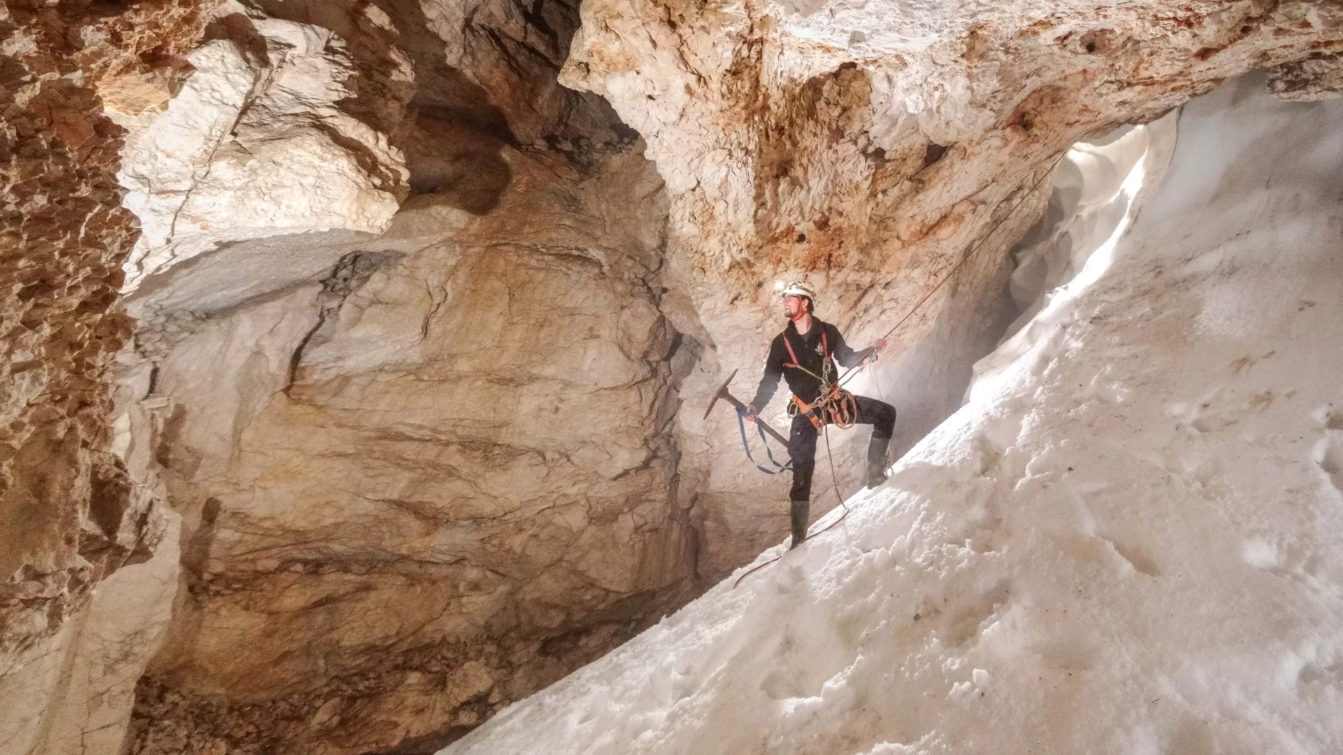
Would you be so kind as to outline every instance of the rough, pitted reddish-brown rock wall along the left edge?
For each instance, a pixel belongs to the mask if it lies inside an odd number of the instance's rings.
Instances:
[[[75,664],[73,617],[165,532],[152,496],[109,453],[105,368],[130,333],[117,292],[136,239],[115,172],[122,129],[103,106],[160,107],[200,34],[199,3],[11,1],[0,7],[0,751],[62,735],[48,705],[99,677],[124,717],[129,686]],[[138,622],[137,622],[138,626]],[[109,637],[117,635],[107,627]],[[132,654],[133,656],[133,654]],[[138,658],[141,662],[146,657]],[[122,673],[138,674],[134,657]],[[105,684],[103,684],[105,682]],[[115,717],[114,716],[114,717]],[[97,717],[90,713],[89,719]],[[71,725],[81,727],[78,720]]]

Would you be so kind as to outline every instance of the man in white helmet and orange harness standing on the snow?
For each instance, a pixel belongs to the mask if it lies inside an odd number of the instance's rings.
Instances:
[[[779,376],[788,380],[794,407],[792,431],[788,435],[788,458],[792,459],[792,490],[790,513],[792,515],[792,543],[796,548],[807,539],[807,516],[811,508],[811,473],[817,468],[817,435],[831,418],[817,407],[822,383],[830,388],[839,379],[835,360],[845,367],[853,367],[886,348],[885,339],[861,352],[849,348],[839,329],[813,317],[817,298],[815,290],[804,281],[788,283],[783,292],[783,313],[788,324],[770,344],[764,375],[755,399],[747,404],[745,418],[755,422],[759,410],[770,403],[779,387]],[[868,488],[876,488],[886,480],[886,447],[896,427],[896,410],[885,402],[868,396],[853,396],[857,404],[858,425],[872,425],[872,439],[868,442]],[[814,422],[815,420],[815,422]]]

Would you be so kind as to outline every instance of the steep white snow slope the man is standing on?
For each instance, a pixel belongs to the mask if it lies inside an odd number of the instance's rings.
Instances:
[[[1343,103],[1191,102],[884,489],[443,752],[1343,752],[1340,184]]]

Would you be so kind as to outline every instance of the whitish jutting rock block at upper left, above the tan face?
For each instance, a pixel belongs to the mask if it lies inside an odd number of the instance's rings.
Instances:
[[[114,112],[130,130],[118,175],[129,189],[125,206],[144,228],[126,265],[128,289],[226,242],[387,230],[408,173],[376,120],[369,125],[338,105],[355,94],[344,40],[234,3],[215,11],[188,60],[195,70],[167,112]],[[414,77],[403,55],[387,64],[395,118],[404,109],[396,95]]]

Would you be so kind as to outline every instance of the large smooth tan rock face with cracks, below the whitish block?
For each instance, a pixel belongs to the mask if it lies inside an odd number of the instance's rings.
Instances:
[[[497,214],[142,343],[187,535],[137,751],[442,742],[693,594],[661,181],[504,156]]]

